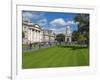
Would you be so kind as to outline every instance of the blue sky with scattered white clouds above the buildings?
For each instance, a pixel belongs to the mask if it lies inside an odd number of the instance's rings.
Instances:
[[[71,30],[77,30],[77,24],[74,22],[74,17],[77,13],[61,13],[61,12],[37,12],[23,11],[23,20],[32,21],[38,24],[42,29],[50,29],[55,33],[65,33],[65,28],[70,25]]]

